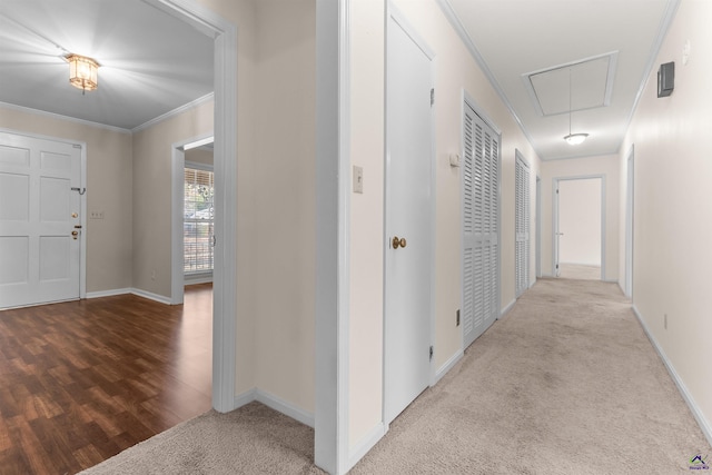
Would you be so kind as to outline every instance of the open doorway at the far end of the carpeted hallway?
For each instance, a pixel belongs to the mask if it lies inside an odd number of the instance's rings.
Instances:
[[[605,177],[554,179],[556,277],[605,280]]]

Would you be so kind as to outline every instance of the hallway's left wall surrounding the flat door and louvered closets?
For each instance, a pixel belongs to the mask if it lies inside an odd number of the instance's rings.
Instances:
[[[462,152],[463,89],[502,130],[502,307],[515,298],[514,162],[515,149],[528,160],[535,190],[538,158],[508,109],[435,1],[395,2],[435,51],[435,369],[462,352],[461,170],[449,155]],[[383,187],[384,187],[384,7],[382,1],[352,2],[352,161],[364,167],[365,192],[352,195],[352,275],[349,343],[349,446],[354,448],[382,420],[383,386]],[[532,195],[532,206],[534,196]],[[535,219],[534,208],[532,219]],[[532,221],[534,222],[534,221]],[[534,278],[534,253],[532,279]],[[356,298],[358,301],[356,300]]]

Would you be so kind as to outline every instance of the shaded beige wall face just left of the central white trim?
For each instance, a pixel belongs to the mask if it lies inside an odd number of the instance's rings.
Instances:
[[[316,7],[256,8],[255,384],[314,413]]]

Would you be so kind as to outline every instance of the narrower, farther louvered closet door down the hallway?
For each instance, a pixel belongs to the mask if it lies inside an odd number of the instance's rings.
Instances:
[[[515,165],[514,248],[516,296],[528,288],[530,275],[530,169],[517,152]]]

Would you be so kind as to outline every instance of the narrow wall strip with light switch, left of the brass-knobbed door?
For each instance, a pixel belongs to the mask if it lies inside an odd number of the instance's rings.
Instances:
[[[354,447],[379,424],[383,410],[385,3],[357,0],[349,7],[350,127],[358,131],[350,158],[364,169],[363,195],[350,194],[348,427]]]

